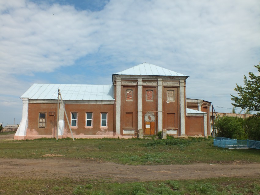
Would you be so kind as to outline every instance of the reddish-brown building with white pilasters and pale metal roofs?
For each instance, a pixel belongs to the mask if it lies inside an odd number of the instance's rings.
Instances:
[[[132,138],[139,129],[206,137],[211,103],[186,99],[188,77],[143,63],[114,73],[113,85],[34,84],[20,97],[23,115],[14,139],[54,138],[57,120],[60,138],[71,137],[69,127],[74,138]]]

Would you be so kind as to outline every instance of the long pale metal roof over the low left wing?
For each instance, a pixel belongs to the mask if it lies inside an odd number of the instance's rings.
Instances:
[[[113,85],[33,84],[20,98],[57,100],[114,100]]]

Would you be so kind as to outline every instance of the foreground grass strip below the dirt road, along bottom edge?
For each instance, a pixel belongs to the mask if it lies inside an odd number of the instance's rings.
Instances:
[[[260,180],[242,178],[211,178],[201,180],[168,180],[156,182],[112,183],[98,180],[2,178],[0,193],[23,194],[108,194],[108,195],[257,195]]]

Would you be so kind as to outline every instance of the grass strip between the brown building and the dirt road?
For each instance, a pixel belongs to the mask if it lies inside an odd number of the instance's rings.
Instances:
[[[129,165],[260,162],[258,149],[218,148],[212,139],[205,138],[0,140],[0,156],[4,158],[43,159],[52,157],[42,155],[54,153],[63,155],[58,158],[93,158]]]

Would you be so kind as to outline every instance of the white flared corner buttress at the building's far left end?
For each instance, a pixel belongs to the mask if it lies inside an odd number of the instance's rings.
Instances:
[[[19,127],[14,135],[14,139],[25,139],[26,130],[28,127],[28,103],[29,98],[22,98],[23,100],[23,113],[22,113],[22,120],[19,124]]]

